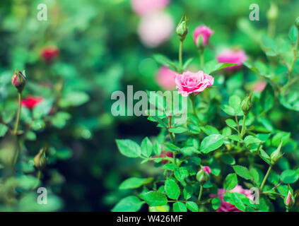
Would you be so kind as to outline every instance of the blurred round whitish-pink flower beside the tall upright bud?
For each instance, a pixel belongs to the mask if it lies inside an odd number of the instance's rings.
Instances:
[[[158,47],[169,40],[174,29],[173,19],[168,13],[157,11],[141,18],[138,33],[147,47]]]

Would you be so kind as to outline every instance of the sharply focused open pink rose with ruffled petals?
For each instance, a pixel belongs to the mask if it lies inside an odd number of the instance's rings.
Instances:
[[[177,74],[175,83],[177,84],[178,93],[183,97],[187,97],[190,93],[197,95],[204,91],[205,88],[213,85],[214,78],[204,73],[204,71],[196,73],[184,71],[182,74]]]

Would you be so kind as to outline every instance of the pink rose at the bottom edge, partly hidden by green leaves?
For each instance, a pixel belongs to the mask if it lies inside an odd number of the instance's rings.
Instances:
[[[238,208],[236,208],[235,205],[232,205],[223,200],[223,196],[224,196],[225,192],[236,192],[236,193],[244,194],[245,196],[247,196],[247,198],[250,198],[251,200],[253,200],[250,190],[243,189],[242,186],[240,186],[240,185],[235,186],[235,188],[230,191],[225,191],[225,189],[218,189],[218,197],[221,199],[221,205],[216,210],[217,212],[242,212],[242,210],[239,210]],[[211,195],[211,197],[216,197],[216,195]]]

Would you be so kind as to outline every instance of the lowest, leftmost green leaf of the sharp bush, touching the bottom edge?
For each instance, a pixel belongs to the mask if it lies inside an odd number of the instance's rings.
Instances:
[[[136,196],[127,196],[126,198],[122,198],[122,200],[112,208],[112,212],[137,212],[143,203],[144,202]]]

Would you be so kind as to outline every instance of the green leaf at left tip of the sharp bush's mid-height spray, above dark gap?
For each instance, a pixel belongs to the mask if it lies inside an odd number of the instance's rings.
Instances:
[[[125,155],[127,157],[139,157],[141,154],[141,148],[134,141],[124,139],[116,140],[116,143],[117,148],[119,149],[120,153],[122,153],[122,155]]]

